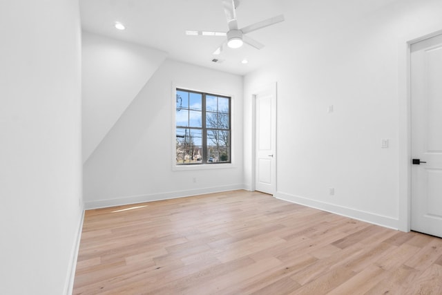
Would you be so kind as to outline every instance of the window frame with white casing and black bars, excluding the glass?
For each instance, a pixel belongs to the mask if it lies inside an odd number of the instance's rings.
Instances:
[[[195,90],[191,88],[186,87],[180,87],[173,84],[172,88],[173,93],[173,149],[172,149],[172,170],[174,171],[183,171],[183,170],[201,170],[201,169],[224,169],[224,168],[232,168],[235,166],[234,164],[234,155],[233,155],[233,95],[227,95],[218,93],[216,91],[200,91]],[[178,126],[177,127],[177,118],[176,118],[176,95],[178,91],[185,91],[190,93],[197,93],[202,95],[202,127],[191,127],[191,126]],[[223,97],[229,99],[229,129],[213,129],[213,128],[206,128],[206,96],[215,96],[215,97]],[[202,131],[202,162],[195,163],[195,164],[178,164],[176,161],[176,136],[177,136],[177,129],[186,128],[186,129],[196,129]],[[208,156],[207,156],[207,130],[228,130],[229,131],[229,162],[208,162]]]

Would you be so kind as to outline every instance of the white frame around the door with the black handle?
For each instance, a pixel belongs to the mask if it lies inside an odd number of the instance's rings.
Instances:
[[[405,37],[400,41],[399,48],[399,71],[398,71],[398,91],[399,91],[399,169],[398,169],[398,230],[411,230],[412,215],[412,120],[411,120],[411,47],[425,39],[430,39],[442,34],[442,29],[426,30],[416,32],[414,35]],[[405,50],[404,45],[405,44]]]

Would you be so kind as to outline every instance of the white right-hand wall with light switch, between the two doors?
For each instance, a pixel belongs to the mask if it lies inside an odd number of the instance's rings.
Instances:
[[[406,230],[406,42],[442,30],[441,13],[442,1],[396,1],[310,43],[294,40],[287,60],[247,75],[244,181],[253,182],[251,94],[278,82],[276,196]]]

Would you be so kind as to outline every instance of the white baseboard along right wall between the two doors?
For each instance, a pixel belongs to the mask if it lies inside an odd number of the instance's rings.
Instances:
[[[380,225],[381,227],[388,227],[390,229],[398,229],[398,219],[391,218],[388,216],[381,216],[378,214],[365,212],[361,210],[356,210],[352,208],[342,207],[335,204],[329,204],[326,202],[320,202],[318,200],[311,200],[308,198],[303,198],[300,196],[293,196],[287,193],[282,193],[280,191],[275,193],[275,198],[280,200],[285,200],[287,202],[292,202],[296,204],[301,204],[307,207],[319,209],[322,211],[327,211],[330,213],[335,213],[340,216],[345,216],[349,218],[354,218],[356,220],[361,220],[365,222],[372,223],[374,225]]]

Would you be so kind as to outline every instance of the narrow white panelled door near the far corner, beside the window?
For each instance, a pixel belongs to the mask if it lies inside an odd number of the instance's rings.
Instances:
[[[276,192],[276,85],[255,95],[255,189]]]

